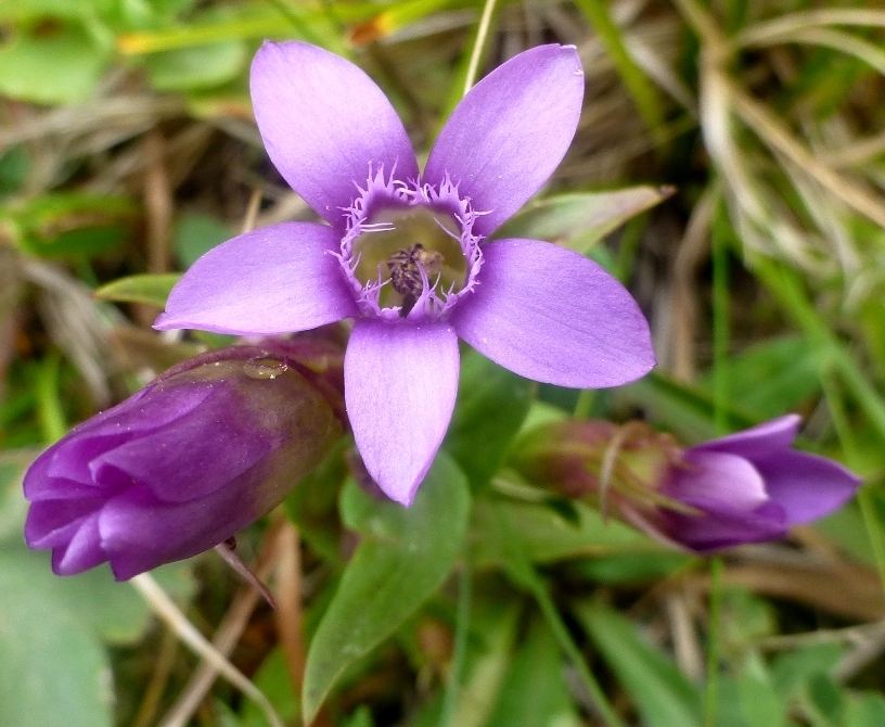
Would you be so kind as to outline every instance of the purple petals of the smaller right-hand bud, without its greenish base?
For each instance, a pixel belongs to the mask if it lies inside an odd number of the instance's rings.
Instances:
[[[841,508],[860,479],[832,460],[791,449],[800,421],[781,417],[687,449],[659,493],[697,512],[660,509],[652,527],[707,552],[782,538],[793,525]]]

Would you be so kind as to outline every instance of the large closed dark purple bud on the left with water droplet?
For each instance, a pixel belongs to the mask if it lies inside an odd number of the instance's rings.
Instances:
[[[25,474],[25,539],[118,581],[267,514],[337,441],[342,352],[261,342],[196,356],[72,430]]]

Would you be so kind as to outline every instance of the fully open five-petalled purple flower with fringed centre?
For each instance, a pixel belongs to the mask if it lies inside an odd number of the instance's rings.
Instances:
[[[568,149],[583,95],[574,48],[534,48],[479,81],[423,173],[381,89],[333,53],[266,42],[251,87],[271,161],[328,225],[273,225],[216,247],[155,327],[254,335],[356,319],[347,414],[392,499],[412,501],[446,434],[459,336],[561,386],[615,386],[654,366],[642,313],[600,266],[537,240],[489,241]]]

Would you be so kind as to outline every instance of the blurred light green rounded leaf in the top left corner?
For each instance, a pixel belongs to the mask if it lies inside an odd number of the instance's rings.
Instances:
[[[0,93],[34,103],[82,102],[110,60],[79,24],[49,20],[18,28],[0,47]]]

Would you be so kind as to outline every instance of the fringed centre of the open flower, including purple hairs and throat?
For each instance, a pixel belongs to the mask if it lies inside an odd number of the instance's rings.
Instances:
[[[385,180],[381,173],[348,209],[339,259],[363,315],[439,319],[469,292],[482,266],[470,201],[446,181]]]

